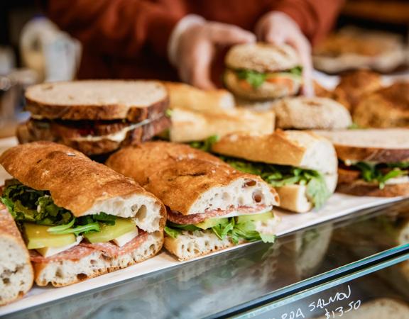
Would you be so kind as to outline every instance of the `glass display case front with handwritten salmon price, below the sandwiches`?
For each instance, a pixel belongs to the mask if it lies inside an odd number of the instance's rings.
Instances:
[[[403,200],[8,318],[409,318],[408,259]]]

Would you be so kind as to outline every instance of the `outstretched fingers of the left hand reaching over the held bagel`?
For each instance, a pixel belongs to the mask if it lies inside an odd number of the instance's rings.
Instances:
[[[253,43],[256,41],[256,35],[250,31],[225,23],[212,23],[208,32],[209,39],[219,45]]]

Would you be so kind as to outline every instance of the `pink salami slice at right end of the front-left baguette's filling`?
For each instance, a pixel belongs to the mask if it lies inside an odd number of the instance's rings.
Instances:
[[[97,242],[91,244],[89,242],[82,241],[80,246],[88,247],[92,250],[99,250],[107,254],[109,257],[117,257],[121,254],[128,254],[129,252],[136,250],[145,240],[148,238],[148,233],[143,230],[139,230],[139,235],[133,238],[130,242],[127,242],[124,246],[119,247],[112,242]]]

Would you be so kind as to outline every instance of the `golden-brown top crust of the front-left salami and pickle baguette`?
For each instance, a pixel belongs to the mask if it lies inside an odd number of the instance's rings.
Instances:
[[[0,156],[0,164],[21,183],[50,191],[55,204],[74,216],[82,216],[94,203],[116,196],[140,194],[158,201],[132,179],[53,142],[12,147]]]

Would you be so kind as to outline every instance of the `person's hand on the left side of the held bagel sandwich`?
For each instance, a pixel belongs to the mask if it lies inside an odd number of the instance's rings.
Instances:
[[[214,89],[211,65],[217,49],[255,40],[253,33],[227,23],[195,23],[180,34],[175,48],[180,79],[200,89]]]

